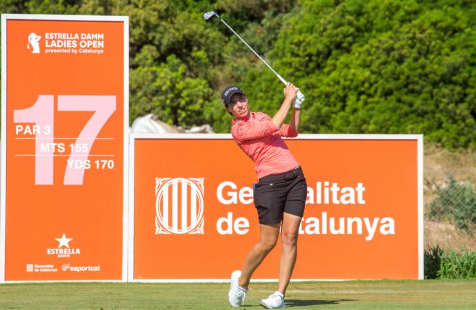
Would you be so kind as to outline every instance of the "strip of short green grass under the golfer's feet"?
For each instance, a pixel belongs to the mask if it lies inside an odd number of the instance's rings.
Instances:
[[[244,309],[276,283],[252,283]],[[232,309],[228,284],[54,282],[0,285],[0,309]],[[291,282],[296,309],[476,309],[476,280]]]

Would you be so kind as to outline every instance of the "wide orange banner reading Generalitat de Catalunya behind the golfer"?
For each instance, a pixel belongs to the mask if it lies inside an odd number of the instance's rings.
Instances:
[[[130,144],[129,279],[226,280],[241,269],[259,238],[257,180],[231,136],[137,135]],[[422,136],[286,144],[308,183],[293,279],[423,278]],[[253,279],[277,278],[280,251],[278,242]]]

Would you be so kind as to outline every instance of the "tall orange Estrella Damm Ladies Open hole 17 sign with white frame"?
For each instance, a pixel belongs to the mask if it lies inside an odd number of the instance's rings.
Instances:
[[[4,14],[1,51],[0,280],[126,280],[128,17]]]

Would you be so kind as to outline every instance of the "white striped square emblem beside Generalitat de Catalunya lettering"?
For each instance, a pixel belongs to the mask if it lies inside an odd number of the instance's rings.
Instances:
[[[204,234],[204,178],[155,178],[155,234]]]

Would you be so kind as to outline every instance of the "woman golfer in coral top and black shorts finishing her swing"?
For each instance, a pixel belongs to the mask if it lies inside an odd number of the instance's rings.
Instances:
[[[254,185],[254,202],[259,218],[259,241],[251,247],[243,269],[231,275],[228,301],[232,307],[244,304],[252,273],[275,247],[281,234],[281,260],[277,291],[260,304],[268,309],[285,308],[284,294],[297,256],[297,236],[306,203],[306,178],[281,136],[295,137],[299,132],[301,103],[295,102],[298,88],[288,83],[284,101],[270,117],[251,112],[245,93],[228,86],[221,93],[226,110],[235,117],[231,133],[237,145],[255,162],[259,182]],[[291,121],[284,124],[289,109]],[[279,231],[281,227],[281,232]]]

